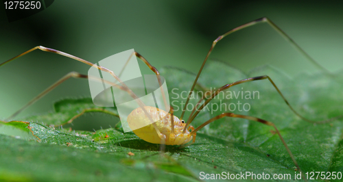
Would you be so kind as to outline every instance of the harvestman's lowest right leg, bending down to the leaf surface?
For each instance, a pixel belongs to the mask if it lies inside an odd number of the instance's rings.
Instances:
[[[279,135],[279,138],[281,140],[281,142],[283,142],[283,145],[285,146],[289,156],[292,158],[292,161],[294,162],[294,164],[296,165],[296,168],[298,168],[298,171],[301,172],[300,167],[298,165],[298,162],[296,162],[296,159],[294,158],[294,155],[292,154],[291,150],[289,150],[285,140],[283,140],[283,137],[281,136],[281,133],[279,132],[279,130],[276,128],[276,126],[274,125],[274,123],[269,122],[267,120],[262,120],[260,118],[255,118],[252,116],[245,116],[245,115],[239,115],[239,114],[233,114],[233,113],[223,113],[220,114],[218,116],[215,116],[213,118],[211,118],[210,120],[207,120],[206,122],[204,122],[202,125],[200,125],[198,128],[196,128],[194,131],[191,132],[191,134],[196,133],[197,131],[199,131],[200,129],[202,129],[204,126],[209,125],[209,123],[215,121],[215,120],[219,120],[220,118],[224,118],[224,117],[232,117],[232,118],[244,118],[247,120],[253,120],[253,121],[257,121],[257,122],[261,122],[264,125],[268,125],[271,127],[274,127],[276,133]]]

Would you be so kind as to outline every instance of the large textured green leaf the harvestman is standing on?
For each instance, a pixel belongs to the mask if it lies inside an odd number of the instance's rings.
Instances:
[[[167,80],[170,103],[176,109],[175,114],[180,116],[183,109],[181,105],[185,103],[185,97],[196,76],[171,67],[161,69],[160,73]],[[323,73],[289,77],[270,66],[242,73],[222,62],[213,61],[205,66],[200,75],[193,95],[195,99],[191,99],[190,103],[195,105],[202,92],[260,75],[269,75],[292,107],[305,118],[326,120],[343,114],[343,84],[340,82],[343,80],[342,74],[335,74],[335,79]],[[226,92],[213,99],[213,105],[209,104],[209,109],[200,112],[191,125],[198,127],[222,112],[262,118],[273,122],[279,129],[303,174],[343,171],[342,118],[320,125],[301,120],[289,109],[268,80],[242,83],[229,90],[233,98]],[[258,91],[259,95],[255,95],[255,99],[247,99],[246,94],[254,91]],[[233,94],[237,95],[238,92],[245,95],[241,97],[240,94],[236,98]],[[240,110],[238,101],[241,103]],[[235,104],[235,110],[228,109],[227,105],[230,103]],[[242,109],[244,104],[250,105],[250,109]],[[134,133],[123,133],[117,128],[91,132],[51,127],[73,120],[84,111],[104,110],[106,114],[117,116],[115,108],[96,107],[91,99],[65,99],[55,104],[54,112],[27,119],[31,121],[30,132],[39,138],[39,142],[0,135],[0,144],[3,146],[0,148],[1,179],[199,181],[203,177],[200,174],[252,172],[269,174],[270,178],[274,174],[290,174],[291,179],[268,181],[294,181],[294,175],[298,174],[285,146],[272,127],[241,118],[222,118],[212,122],[198,131],[195,144],[182,149],[178,146],[150,144]],[[187,110],[184,119],[187,120],[188,116]],[[251,180],[248,177],[237,181],[260,180]]]

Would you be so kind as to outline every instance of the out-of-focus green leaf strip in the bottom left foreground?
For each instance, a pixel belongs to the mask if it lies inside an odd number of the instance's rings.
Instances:
[[[129,166],[126,152],[101,153],[0,135],[1,181],[184,181],[189,177],[163,172],[154,163]],[[120,155],[121,157],[117,157]],[[132,175],[134,174],[134,175]],[[139,177],[139,178],[137,178]],[[188,181],[192,181],[191,179]]]

